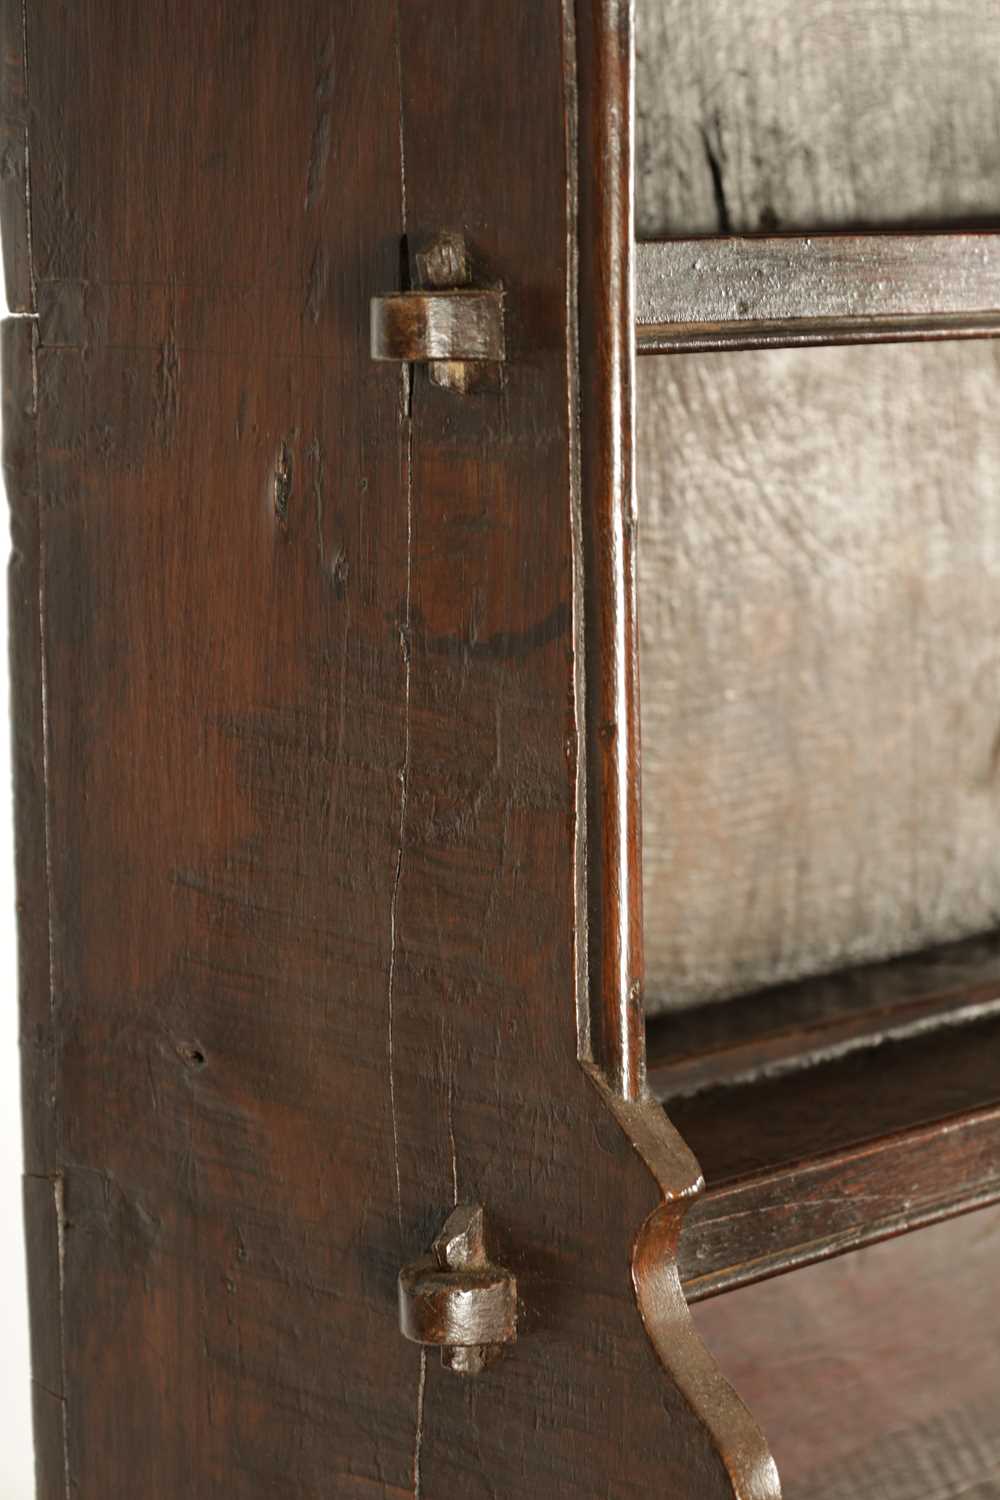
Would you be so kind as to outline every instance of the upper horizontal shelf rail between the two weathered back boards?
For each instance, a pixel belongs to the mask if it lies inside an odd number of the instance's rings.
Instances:
[[[636,246],[639,354],[1000,336],[1000,234],[774,234]]]

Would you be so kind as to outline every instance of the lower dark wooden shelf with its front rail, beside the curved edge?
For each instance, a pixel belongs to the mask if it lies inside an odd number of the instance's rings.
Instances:
[[[649,1026],[649,1082],[706,1191],[690,1300],[1000,1200],[1000,942]]]

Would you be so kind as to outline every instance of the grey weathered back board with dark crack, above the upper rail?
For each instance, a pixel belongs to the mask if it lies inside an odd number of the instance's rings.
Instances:
[[[996,0],[637,0],[637,232],[996,222]]]

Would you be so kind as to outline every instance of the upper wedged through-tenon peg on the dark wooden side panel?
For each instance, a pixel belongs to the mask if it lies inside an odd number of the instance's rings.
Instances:
[[[462,234],[414,255],[414,291],[372,297],[372,358],[427,364],[435,386],[496,388],[505,358],[504,294],[474,285]]]

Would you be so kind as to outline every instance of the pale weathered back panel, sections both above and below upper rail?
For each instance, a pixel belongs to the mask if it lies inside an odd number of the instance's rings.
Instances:
[[[1000,222],[1000,6],[639,12],[640,232]],[[639,378],[649,1008],[994,926],[997,352]]]

